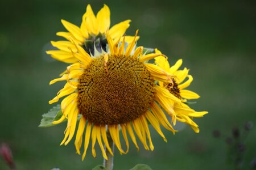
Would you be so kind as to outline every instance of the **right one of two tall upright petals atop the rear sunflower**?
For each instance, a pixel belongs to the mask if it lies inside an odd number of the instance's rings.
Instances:
[[[97,14],[97,23],[101,33],[105,33],[110,27],[110,10],[109,7],[104,5]]]

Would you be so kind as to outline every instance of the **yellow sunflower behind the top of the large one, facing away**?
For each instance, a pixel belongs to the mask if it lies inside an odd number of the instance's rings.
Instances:
[[[77,58],[73,57],[71,50],[77,52],[76,45],[81,46],[85,51],[94,55],[94,47],[101,52],[106,51],[106,35],[105,32],[109,29],[109,34],[113,41],[118,41],[129,28],[131,20],[125,20],[121,23],[115,24],[110,28],[110,10],[109,7],[104,5],[95,16],[92,7],[88,5],[86,12],[82,16],[82,23],[80,27],[61,20],[61,23],[68,32],[57,32],[57,36],[64,37],[68,41],[51,41],[51,44],[59,50],[47,51],[47,54],[59,61],[66,63],[77,62]],[[126,42],[131,42],[134,37],[126,36]],[[138,39],[138,37],[137,37]]]

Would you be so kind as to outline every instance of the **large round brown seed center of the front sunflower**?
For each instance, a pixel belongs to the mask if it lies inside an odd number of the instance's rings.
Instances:
[[[138,59],[96,58],[80,77],[78,107],[90,122],[113,125],[141,116],[154,101],[154,79]]]

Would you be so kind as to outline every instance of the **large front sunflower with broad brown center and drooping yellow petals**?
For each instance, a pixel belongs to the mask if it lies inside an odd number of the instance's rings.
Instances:
[[[168,116],[174,118],[175,115],[170,104],[181,101],[166,88],[155,83],[156,81],[171,83],[171,74],[153,63],[147,63],[149,59],[163,56],[163,54],[144,55],[143,47],[135,46],[137,33],[133,41],[127,45],[126,37],[123,37],[121,42],[114,42],[110,33],[107,32],[109,48],[106,49],[106,52],[97,52],[98,56],[86,53],[81,46],[73,42],[76,52],[72,52],[72,55],[76,61],[67,67],[66,72],[60,78],[50,82],[53,84],[61,80],[67,81],[57,96],[49,101],[49,104],[52,104],[57,102],[60,97],[66,96],[61,101],[63,116],[60,120],[53,122],[53,124],[59,124],[65,119],[68,120],[61,145],[67,145],[73,138],[77,117],[81,114],[75,146],[77,153],[80,154],[84,139],[82,160],[85,158],[90,141],[92,141],[94,157],[96,156],[94,149],[96,141],[100,145],[105,159],[108,158],[104,145],[110,154],[113,154],[106,131],[109,131],[121,154],[126,154],[129,151],[127,135],[130,135],[131,141],[138,149],[135,135],[146,150],[154,150],[148,122],[164,141],[166,138],[160,125],[173,133],[176,131],[172,128],[163,109]],[[97,49],[95,50],[97,51]],[[125,139],[126,151],[121,147],[120,131]]]

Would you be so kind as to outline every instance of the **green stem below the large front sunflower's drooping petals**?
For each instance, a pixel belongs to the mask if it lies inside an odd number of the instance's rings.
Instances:
[[[112,149],[112,152],[114,154],[114,142],[113,142],[113,139],[110,136],[109,131],[107,131],[107,137],[108,137],[109,146],[112,147],[111,149]],[[106,146],[105,146],[105,151],[106,151],[106,155],[108,156],[108,160],[106,160],[104,158],[103,165],[104,165],[104,167],[106,169],[113,170],[113,167],[114,167],[114,156],[112,154],[110,154],[110,152],[108,151]]]

